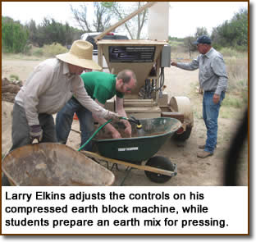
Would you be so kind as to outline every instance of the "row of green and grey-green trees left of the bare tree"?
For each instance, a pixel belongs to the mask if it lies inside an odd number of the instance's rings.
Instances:
[[[31,20],[26,25],[13,21],[10,17],[2,17],[2,49],[6,53],[31,54],[32,45],[43,47],[44,44],[61,43],[71,45],[75,39],[80,39],[81,30],[77,30],[67,23],[44,18],[41,25]],[[32,45],[31,45],[32,44]],[[36,56],[43,53],[36,51]]]

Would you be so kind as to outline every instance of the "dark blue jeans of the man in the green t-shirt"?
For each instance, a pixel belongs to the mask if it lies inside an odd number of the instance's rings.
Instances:
[[[94,134],[94,118],[92,112],[82,106],[75,98],[71,98],[56,117],[57,140],[61,144],[66,144],[66,140],[71,131],[74,114],[80,121],[81,145]],[[84,150],[92,150],[92,142],[86,144]]]

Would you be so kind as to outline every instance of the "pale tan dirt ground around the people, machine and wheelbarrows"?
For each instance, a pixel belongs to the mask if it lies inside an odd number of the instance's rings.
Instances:
[[[10,75],[17,75],[23,82],[28,77],[34,66],[41,61],[24,60],[5,60],[2,59],[2,78],[10,78]],[[194,127],[190,139],[184,143],[177,143],[173,139],[167,140],[156,155],[162,155],[177,165],[177,175],[173,176],[164,184],[151,182],[144,174],[144,171],[133,169],[126,178],[124,185],[222,185],[223,170],[225,167],[225,155],[230,146],[232,135],[240,124],[242,110],[238,110],[235,118],[223,118],[218,120],[218,140],[214,155],[209,158],[200,159],[196,157],[198,145],[204,144],[206,139],[206,129],[202,119],[202,94],[196,90],[198,83],[198,71],[183,71],[176,67],[165,68],[165,92],[172,96],[186,96],[190,98],[194,110]],[[11,147],[11,111],[12,103],[2,101],[2,155],[7,153]],[[78,121],[73,121],[72,128],[80,130]],[[80,135],[71,131],[67,145],[72,148],[80,147]],[[240,185],[248,183],[248,148],[244,148],[240,160],[243,164],[240,166]],[[106,166],[106,162],[101,162]],[[110,164],[112,166],[112,164]],[[113,185],[120,185],[121,180],[126,174],[125,166],[113,167],[113,173],[116,176]]]

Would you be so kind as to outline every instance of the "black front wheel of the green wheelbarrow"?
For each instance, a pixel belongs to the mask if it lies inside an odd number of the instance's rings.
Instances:
[[[148,162],[146,162],[146,166],[156,167],[156,168],[167,170],[167,171],[175,170],[175,166],[171,163],[171,161],[168,158],[164,158],[161,156],[155,156],[153,158],[150,158]],[[167,180],[171,179],[171,176],[158,174],[152,171],[144,171],[144,172],[145,172],[145,175],[149,178],[149,180],[156,183],[164,183],[164,182],[167,182]]]

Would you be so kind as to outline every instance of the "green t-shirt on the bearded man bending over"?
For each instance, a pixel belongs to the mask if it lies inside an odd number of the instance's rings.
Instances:
[[[115,95],[123,98],[124,94],[116,90],[116,77],[111,73],[92,71],[80,75],[85,84],[85,89],[89,96],[97,99],[99,103],[105,104],[108,99]]]

